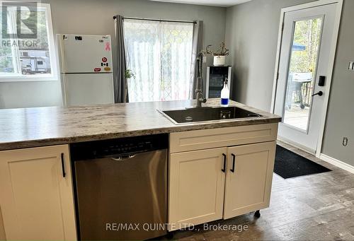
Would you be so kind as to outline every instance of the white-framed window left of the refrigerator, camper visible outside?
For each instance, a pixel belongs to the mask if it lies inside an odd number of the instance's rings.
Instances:
[[[0,4],[0,81],[57,79],[50,5]]]

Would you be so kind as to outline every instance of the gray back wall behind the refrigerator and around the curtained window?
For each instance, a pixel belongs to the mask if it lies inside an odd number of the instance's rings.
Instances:
[[[54,34],[114,35],[113,16],[204,20],[205,45],[225,36],[226,8],[147,0],[43,0],[51,4]],[[211,60],[211,59],[210,59]],[[0,108],[62,105],[59,81],[0,82]]]

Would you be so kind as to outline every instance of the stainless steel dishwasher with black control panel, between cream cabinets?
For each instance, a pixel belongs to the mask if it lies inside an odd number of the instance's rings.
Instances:
[[[79,240],[167,233],[166,134],[70,146]]]

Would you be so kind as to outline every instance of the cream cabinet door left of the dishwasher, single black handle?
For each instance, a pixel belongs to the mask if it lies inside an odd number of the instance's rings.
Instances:
[[[67,145],[1,151],[0,193],[7,240],[76,240]]]

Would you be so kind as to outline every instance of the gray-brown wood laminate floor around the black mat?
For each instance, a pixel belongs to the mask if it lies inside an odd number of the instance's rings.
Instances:
[[[270,207],[261,210],[261,218],[249,213],[211,223],[248,230],[203,230],[201,225],[177,231],[173,240],[354,240],[354,174],[278,144],[333,171],[286,180],[274,174]]]

